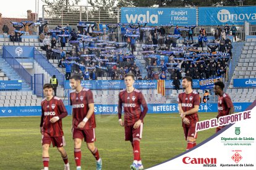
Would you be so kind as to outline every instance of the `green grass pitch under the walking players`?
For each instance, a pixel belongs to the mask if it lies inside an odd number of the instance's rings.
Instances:
[[[199,113],[199,119],[215,118],[217,113]],[[144,120],[140,143],[142,163],[149,168],[184,152],[181,119],[178,114],[148,114]],[[75,169],[71,116],[62,121],[70,169]],[[0,169],[43,169],[41,161],[40,117],[0,118]],[[129,169],[133,161],[130,142],[124,141],[124,128],[117,115],[96,115],[96,142],[103,169]],[[208,129],[198,133],[197,144],[215,133]],[[64,169],[56,148],[49,149],[49,169]],[[82,169],[96,169],[95,158],[82,144]]]

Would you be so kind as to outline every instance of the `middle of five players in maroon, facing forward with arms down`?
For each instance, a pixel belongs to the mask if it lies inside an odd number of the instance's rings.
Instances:
[[[134,88],[134,75],[128,73],[124,81],[126,89],[119,92],[118,118],[119,124],[124,126],[125,140],[130,141],[134,151],[134,163],[131,169],[143,169],[140,159],[140,139],[142,139],[143,118],[148,107],[142,92]],[[143,111],[140,106],[142,105]],[[122,121],[122,107],[124,107],[124,121]]]

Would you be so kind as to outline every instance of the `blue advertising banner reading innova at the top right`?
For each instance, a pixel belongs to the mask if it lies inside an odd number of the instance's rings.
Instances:
[[[198,25],[256,24],[255,6],[251,7],[198,7]]]

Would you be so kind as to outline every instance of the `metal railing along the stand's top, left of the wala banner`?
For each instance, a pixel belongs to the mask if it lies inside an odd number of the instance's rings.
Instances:
[[[79,21],[97,23],[120,22],[120,7],[92,7],[92,6],[43,6],[43,20],[49,25],[59,24],[76,26]]]

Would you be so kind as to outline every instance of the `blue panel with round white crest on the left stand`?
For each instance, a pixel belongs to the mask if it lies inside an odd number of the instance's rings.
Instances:
[[[33,58],[34,47],[33,46],[6,46],[6,50],[14,56],[14,58]]]

